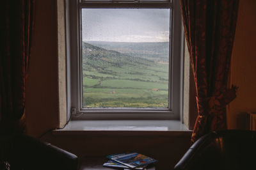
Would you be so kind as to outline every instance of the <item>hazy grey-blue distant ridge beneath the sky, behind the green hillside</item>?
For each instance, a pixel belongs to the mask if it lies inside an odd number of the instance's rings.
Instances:
[[[153,59],[154,61],[168,61],[169,42],[86,42],[97,47],[115,50],[134,57]]]

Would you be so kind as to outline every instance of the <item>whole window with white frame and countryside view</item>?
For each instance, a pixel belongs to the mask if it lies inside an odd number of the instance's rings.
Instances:
[[[81,117],[179,119],[179,1],[66,1],[68,107]]]

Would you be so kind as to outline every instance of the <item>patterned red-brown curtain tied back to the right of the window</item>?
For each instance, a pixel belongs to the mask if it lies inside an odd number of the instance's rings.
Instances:
[[[228,73],[236,31],[238,0],[180,0],[195,77],[198,116],[191,137],[227,128],[226,105],[236,98]]]

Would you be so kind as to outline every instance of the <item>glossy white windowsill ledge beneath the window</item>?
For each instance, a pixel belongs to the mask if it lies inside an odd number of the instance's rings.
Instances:
[[[179,120],[76,120],[56,135],[191,135]]]

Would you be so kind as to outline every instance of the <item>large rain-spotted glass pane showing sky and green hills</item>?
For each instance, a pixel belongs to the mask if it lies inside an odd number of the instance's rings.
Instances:
[[[170,9],[83,8],[83,107],[167,108]]]

